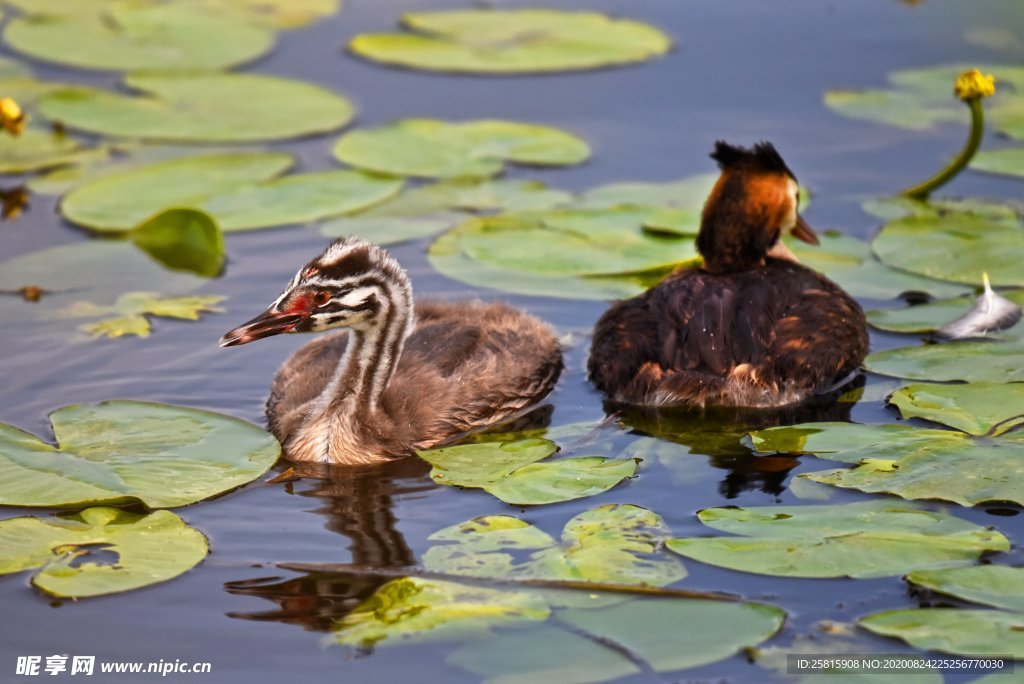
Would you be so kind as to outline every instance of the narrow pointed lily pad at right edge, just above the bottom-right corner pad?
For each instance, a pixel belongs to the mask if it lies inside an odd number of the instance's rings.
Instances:
[[[907,582],[966,601],[1024,612],[1024,568],[975,565],[944,570],[914,570]]]

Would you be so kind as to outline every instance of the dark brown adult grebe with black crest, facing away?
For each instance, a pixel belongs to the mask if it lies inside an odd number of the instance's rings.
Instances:
[[[590,377],[614,401],[787,405],[842,384],[867,353],[860,306],[820,273],[772,256],[783,230],[817,242],[775,148],[718,142],[712,158],[722,176],[697,237],[703,266],[615,303],[594,330]]]

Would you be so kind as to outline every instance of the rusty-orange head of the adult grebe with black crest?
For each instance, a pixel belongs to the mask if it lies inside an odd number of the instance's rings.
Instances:
[[[800,216],[800,185],[770,142],[753,148],[719,140],[711,158],[722,175],[705,203],[697,250],[713,271],[764,263],[784,232],[812,245],[818,238]]]

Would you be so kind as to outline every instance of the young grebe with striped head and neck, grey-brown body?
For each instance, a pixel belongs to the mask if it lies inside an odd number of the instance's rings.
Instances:
[[[270,430],[297,461],[372,463],[510,421],[553,389],[551,330],[505,304],[424,302],[379,247],[335,242],[223,346],[284,332],[313,340],[273,379]],[[353,343],[354,341],[354,343]]]

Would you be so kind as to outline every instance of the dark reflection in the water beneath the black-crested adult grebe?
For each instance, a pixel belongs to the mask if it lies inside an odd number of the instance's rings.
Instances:
[[[863,385],[864,378],[858,377],[843,389],[856,390]],[[853,407],[853,401],[840,401],[839,394],[833,393],[778,409],[652,409],[606,402],[605,411],[616,412],[620,421],[636,432],[683,444],[691,454],[710,457],[712,466],[728,471],[719,484],[719,493],[726,499],[735,499],[743,491],[782,494],[786,474],[798,464],[796,458],[786,455],[754,456],[743,440],[748,433],[797,423],[849,422]]]

